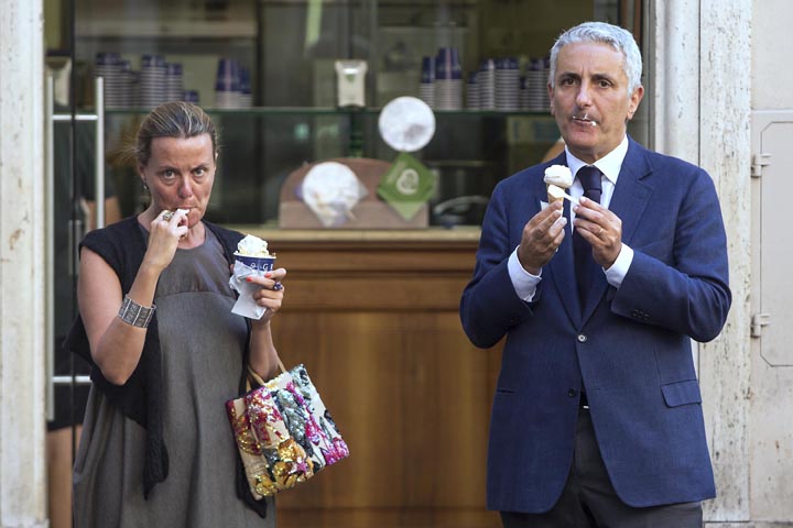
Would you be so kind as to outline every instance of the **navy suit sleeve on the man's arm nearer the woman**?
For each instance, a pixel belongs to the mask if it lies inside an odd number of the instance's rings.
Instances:
[[[531,305],[518,296],[509,276],[507,263],[514,248],[510,243],[506,195],[502,186],[497,186],[482,221],[474,278],[460,300],[463,328],[479,348],[495,345],[531,316]],[[523,226],[512,229],[522,231]],[[535,301],[539,295],[540,288]]]

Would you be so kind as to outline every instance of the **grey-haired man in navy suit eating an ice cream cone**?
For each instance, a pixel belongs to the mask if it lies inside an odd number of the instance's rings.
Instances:
[[[716,493],[691,339],[727,318],[725,230],[703,169],[627,135],[641,68],[620,28],[562,34],[565,153],[501,182],[485,216],[460,317],[478,346],[507,337],[487,484],[506,527],[699,527]],[[545,204],[552,164],[579,205]]]

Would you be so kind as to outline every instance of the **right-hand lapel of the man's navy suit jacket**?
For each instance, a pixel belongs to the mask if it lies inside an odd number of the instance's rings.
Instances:
[[[622,242],[630,245],[642,212],[647,208],[652,187],[645,182],[651,175],[651,167],[644,155],[643,148],[633,140],[629,140],[628,154],[622,162],[617,187],[615,188],[609,210],[622,220]],[[609,285],[605,275],[598,275],[589,292],[589,299],[583,314],[583,322],[586,322],[602,300]]]

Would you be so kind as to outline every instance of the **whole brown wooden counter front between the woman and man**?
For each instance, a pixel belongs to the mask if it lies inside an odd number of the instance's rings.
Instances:
[[[279,249],[274,339],[351,455],[279,496],[279,526],[498,526],[485,484],[500,354],[472,346],[457,311],[476,244],[318,245]]]

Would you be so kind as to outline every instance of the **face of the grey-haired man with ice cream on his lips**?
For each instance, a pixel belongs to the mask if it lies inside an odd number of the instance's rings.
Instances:
[[[567,147],[586,163],[620,144],[644,95],[641,86],[628,95],[623,61],[604,43],[568,44],[558,52],[555,86],[548,86],[551,113]]]

